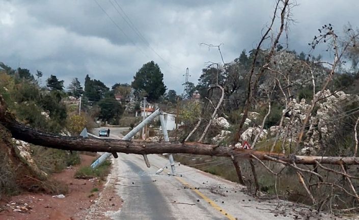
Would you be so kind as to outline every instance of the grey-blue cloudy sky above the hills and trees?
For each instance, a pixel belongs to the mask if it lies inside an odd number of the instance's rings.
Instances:
[[[289,46],[309,52],[325,23],[359,27],[357,0],[297,0]],[[130,83],[148,61],[160,66],[168,89],[181,93],[183,74],[197,83],[218,52],[226,62],[250,51],[269,22],[274,0],[0,0],[0,62],[56,75],[65,84],[86,74],[107,86]],[[320,53],[320,52],[318,52]],[[325,56],[325,55],[324,55]]]

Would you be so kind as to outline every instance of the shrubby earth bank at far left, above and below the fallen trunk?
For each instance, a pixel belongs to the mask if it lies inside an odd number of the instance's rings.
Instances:
[[[40,87],[39,78],[27,69],[11,69],[1,63],[0,93],[21,123],[42,131],[68,135],[78,132],[74,128],[74,113],[62,102],[66,93],[51,87]],[[80,117],[83,126],[86,119]],[[69,123],[71,121],[71,123]],[[82,124],[81,124],[82,123]],[[77,152],[43,148],[11,138],[7,129],[0,128],[0,198],[22,190],[64,192],[66,188],[48,180],[48,174],[60,172],[67,166],[79,163]]]

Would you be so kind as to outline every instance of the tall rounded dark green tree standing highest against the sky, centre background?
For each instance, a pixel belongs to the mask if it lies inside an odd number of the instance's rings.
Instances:
[[[157,63],[153,61],[144,64],[136,72],[133,79],[132,87],[137,99],[140,98],[142,90],[147,93],[147,99],[150,102],[157,101],[166,91],[166,86],[163,84],[163,74]]]

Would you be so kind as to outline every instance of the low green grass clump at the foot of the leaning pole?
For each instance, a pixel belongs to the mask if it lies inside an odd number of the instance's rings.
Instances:
[[[99,177],[101,180],[105,180],[110,172],[110,168],[111,160],[105,160],[96,169],[93,169],[90,166],[81,166],[75,173],[74,177],[77,179],[92,179]]]

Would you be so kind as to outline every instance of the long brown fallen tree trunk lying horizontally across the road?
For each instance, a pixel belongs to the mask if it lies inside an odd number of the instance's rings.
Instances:
[[[243,159],[258,158],[285,164],[359,164],[359,157],[321,157],[284,155],[273,152],[261,152],[203,144],[198,142],[146,142],[117,139],[86,139],[81,137],[61,136],[42,132],[19,123],[10,113],[6,103],[0,97],[0,123],[6,127],[16,139],[32,144],[68,151],[109,152],[126,154],[162,154],[187,153],[217,157],[235,157]]]

